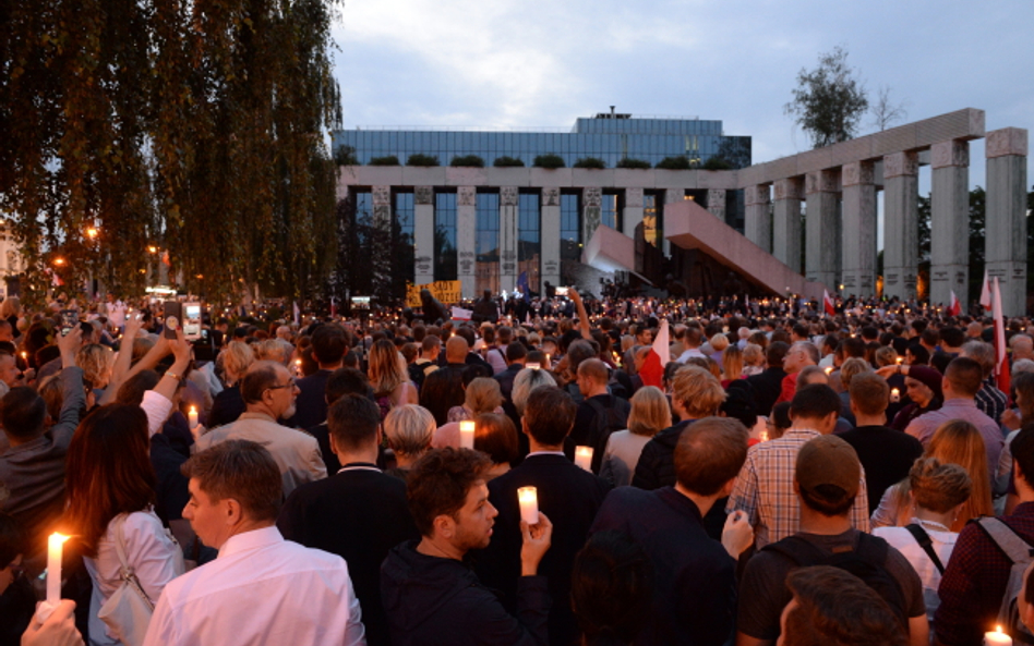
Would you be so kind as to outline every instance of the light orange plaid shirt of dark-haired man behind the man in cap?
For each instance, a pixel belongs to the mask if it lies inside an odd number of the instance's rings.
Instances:
[[[725,511],[746,512],[758,549],[798,532],[801,509],[793,492],[797,451],[818,436],[817,430],[791,428],[783,437],[755,444],[747,451],[747,461],[740,470]],[[869,531],[868,512],[863,470],[858,495],[851,508],[851,524],[855,529]]]

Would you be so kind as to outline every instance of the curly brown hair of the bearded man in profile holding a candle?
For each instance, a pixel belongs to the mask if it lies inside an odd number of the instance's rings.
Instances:
[[[456,517],[467,492],[484,480],[491,466],[484,453],[452,447],[432,449],[417,460],[409,471],[406,499],[420,535],[431,536],[434,519],[441,515]]]

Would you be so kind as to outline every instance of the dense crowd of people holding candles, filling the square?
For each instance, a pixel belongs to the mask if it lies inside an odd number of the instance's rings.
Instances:
[[[425,305],[5,300],[0,644],[1034,643],[1030,320]]]

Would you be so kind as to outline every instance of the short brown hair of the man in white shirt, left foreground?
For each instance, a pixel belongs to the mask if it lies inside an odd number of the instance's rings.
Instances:
[[[284,479],[273,455],[251,440],[226,440],[194,453],[180,467],[213,502],[233,499],[253,521],[275,521]]]

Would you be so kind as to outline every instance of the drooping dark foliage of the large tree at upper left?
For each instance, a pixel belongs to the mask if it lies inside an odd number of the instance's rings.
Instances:
[[[8,3],[0,210],[23,287],[60,255],[70,284],[140,293],[154,245],[196,293],[317,289],[335,257],[336,2]]]

